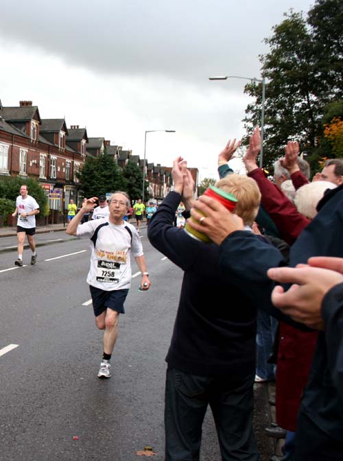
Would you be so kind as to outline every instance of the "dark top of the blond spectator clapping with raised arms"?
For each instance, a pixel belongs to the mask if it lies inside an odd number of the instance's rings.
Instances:
[[[219,247],[173,226],[179,202],[169,192],[147,228],[152,245],[185,272],[168,366],[204,376],[255,374],[257,310],[246,289],[221,273]]]

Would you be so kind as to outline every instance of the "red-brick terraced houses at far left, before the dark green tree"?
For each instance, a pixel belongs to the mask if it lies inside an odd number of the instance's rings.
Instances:
[[[36,178],[47,193],[50,210],[63,209],[66,190],[68,199],[73,196],[78,203],[75,173],[85,155],[67,144],[68,136],[64,119],[41,119],[32,101],[13,107],[0,102],[0,175]]]

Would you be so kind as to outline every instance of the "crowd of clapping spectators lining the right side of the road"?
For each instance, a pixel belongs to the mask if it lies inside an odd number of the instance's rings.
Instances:
[[[165,459],[198,459],[210,405],[222,459],[257,460],[249,390],[275,379],[278,427],[270,435],[285,434],[279,459],[342,460],[343,159],[311,178],[298,143],[288,142],[270,179],[257,165],[257,127],[243,158],[247,177],[237,179],[228,161],[238,146],[229,141],[220,153],[216,183],[237,196],[233,213],[206,195],[193,201],[178,157],[175,190],[148,227],[152,245],[185,271],[167,355]],[[244,212],[251,218],[256,199],[250,222]],[[181,201],[191,212],[187,225],[213,243],[173,226]]]

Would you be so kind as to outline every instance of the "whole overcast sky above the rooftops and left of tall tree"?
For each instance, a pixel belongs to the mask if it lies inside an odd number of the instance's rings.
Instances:
[[[217,154],[244,135],[248,80],[263,38],[309,0],[1,0],[0,98],[32,100],[42,118],[171,166],[177,155],[215,177]]]

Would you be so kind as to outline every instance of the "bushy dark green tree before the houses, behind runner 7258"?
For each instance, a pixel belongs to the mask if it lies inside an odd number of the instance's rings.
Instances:
[[[97,197],[106,192],[126,190],[126,180],[112,155],[88,157],[78,173],[78,179],[85,197]]]

